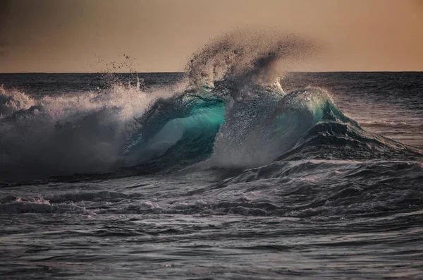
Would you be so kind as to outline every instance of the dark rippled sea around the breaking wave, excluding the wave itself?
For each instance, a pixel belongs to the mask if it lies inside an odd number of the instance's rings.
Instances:
[[[286,92],[323,87],[365,130],[417,148],[330,126],[318,134],[324,141],[310,130],[297,150],[250,169],[198,162],[142,176],[4,181],[0,278],[422,279],[422,81],[294,73],[282,82]],[[107,87],[92,74],[0,75],[1,83],[41,96]]]

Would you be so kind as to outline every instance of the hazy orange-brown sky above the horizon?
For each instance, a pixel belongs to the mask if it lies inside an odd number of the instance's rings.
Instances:
[[[0,0],[0,73],[183,71],[248,29],[319,42],[296,71],[423,71],[423,0]]]

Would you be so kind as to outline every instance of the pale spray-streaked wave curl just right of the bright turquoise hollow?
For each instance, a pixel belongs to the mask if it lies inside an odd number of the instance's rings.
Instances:
[[[216,135],[212,166],[245,168],[269,164],[292,148],[323,116],[331,97],[317,88],[306,88],[233,102]]]

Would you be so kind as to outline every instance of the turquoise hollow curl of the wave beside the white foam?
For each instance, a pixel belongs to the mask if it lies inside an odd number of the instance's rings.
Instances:
[[[163,169],[204,159],[225,121],[225,105],[207,90],[157,100],[121,147],[125,165],[147,163]]]

